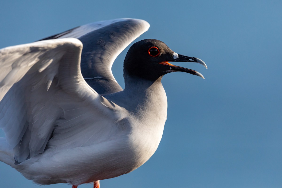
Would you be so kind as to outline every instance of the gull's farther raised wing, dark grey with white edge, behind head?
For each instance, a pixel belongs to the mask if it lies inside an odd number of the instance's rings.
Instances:
[[[78,38],[83,43],[81,73],[85,81],[103,95],[122,90],[111,71],[113,62],[149,26],[140,19],[114,19],[76,27],[45,39]]]

